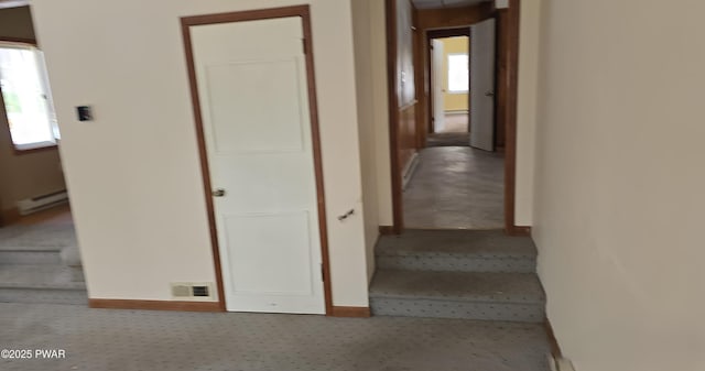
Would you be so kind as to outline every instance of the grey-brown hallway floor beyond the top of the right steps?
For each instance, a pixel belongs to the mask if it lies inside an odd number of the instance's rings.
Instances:
[[[404,190],[404,226],[503,228],[503,154],[468,146],[429,148]]]

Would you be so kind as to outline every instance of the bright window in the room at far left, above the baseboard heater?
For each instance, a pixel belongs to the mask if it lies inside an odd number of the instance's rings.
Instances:
[[[42,51],[0,42],[0,90],[17,150],[56,144],[59,133]]]

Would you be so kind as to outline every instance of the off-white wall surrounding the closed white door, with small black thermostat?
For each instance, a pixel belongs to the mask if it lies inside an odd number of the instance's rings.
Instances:
[[[300,3],[33,1],[90,297],[169,299],[170,282],[215,281],[178,18]],[[333,299],[367,306],[350,4],[310,3]],[[77,122],[78,105],[96,121]]]

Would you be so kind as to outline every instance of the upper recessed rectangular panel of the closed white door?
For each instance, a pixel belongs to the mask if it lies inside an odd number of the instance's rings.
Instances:
[[[216,152],[303,150],[297,62],[295,58],[252,61],[206,67]],[[267,99],[234,86],[257,87],[267,92]]]

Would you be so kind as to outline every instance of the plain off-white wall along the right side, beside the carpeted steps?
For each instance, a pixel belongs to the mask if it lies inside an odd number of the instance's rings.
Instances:
[[[533,231],[578,371],[705,370],[703,13],[543,1]]]

